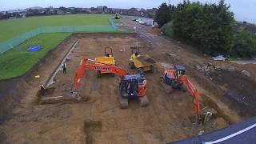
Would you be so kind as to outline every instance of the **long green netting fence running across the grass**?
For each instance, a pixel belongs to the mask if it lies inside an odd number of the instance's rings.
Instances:
[[[112,18],[109,18],[110,26],[45,26],[45,27],[38,27],[37,29],[30,30],[24,34],[20,34],[14,38],[10,38],[5,42],[0,42],[0,54],[6,52],[18,46],[22,42],[37,36],[38,34],[45,34],[45,33],[76,33],[76,32],[114,32],[116,31],[117,27],[113,22]]]

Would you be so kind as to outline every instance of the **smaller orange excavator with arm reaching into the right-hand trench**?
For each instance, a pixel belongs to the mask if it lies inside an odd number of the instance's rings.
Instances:
[[[164,71],[164,76],[161,77],[161,85],[164,90],[166,90],[167,94],[171,94],[174,89],[182,91],[189,90],[190,94],[194,97],[194,114],[198,119],[200,111],[198,90],[194,88],[194,85],[190,82],[185,73],[185,67],[181,65],[168,68]]]

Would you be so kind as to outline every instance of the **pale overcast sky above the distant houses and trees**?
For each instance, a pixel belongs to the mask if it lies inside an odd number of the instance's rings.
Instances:
[[[200,2],[218,2],[218,0],[199,0]],[[0,0],[0,11],[25,9],[32,6],[108,6],[116,8],[152,8],[158,7],[162,2],[168,0]],[[182,0],[170,0],[171,3],[177,4]],[[226,0],[234,11],[235,18],[240,21],[256,22],[256,0]]]

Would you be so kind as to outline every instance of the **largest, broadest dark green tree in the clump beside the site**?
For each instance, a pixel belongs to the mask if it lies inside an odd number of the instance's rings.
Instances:
[[[173,21],[174,35],[190,40],[207,54],[227,54],[232,49],[234,14],[223,0],[218,4],[184,1]]]

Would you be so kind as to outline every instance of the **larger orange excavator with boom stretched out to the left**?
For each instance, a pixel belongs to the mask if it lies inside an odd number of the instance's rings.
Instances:
[[[79,99],[78,86],[82,77],[88,70],[97,70],[103,73],[114,73],[120,77],[119,82],[119,103],[121,108],[128,107],[130,98],[136,98],[141,102],[141,106],[148,105],[148,98],[146,97],[146,78],[143,74],[128,74],[122,67],[114,64],[106,64],[95,62],[94,60],[83,58],[80,65],[78,66],[77,73],[74,77],[73,90],[71,90],[72,97]]]

